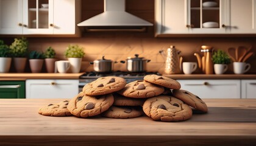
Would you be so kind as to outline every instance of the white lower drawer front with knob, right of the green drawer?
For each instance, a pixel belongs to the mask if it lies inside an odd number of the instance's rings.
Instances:
[[[79,80],[26,80],[26,99],[71,99]]]

